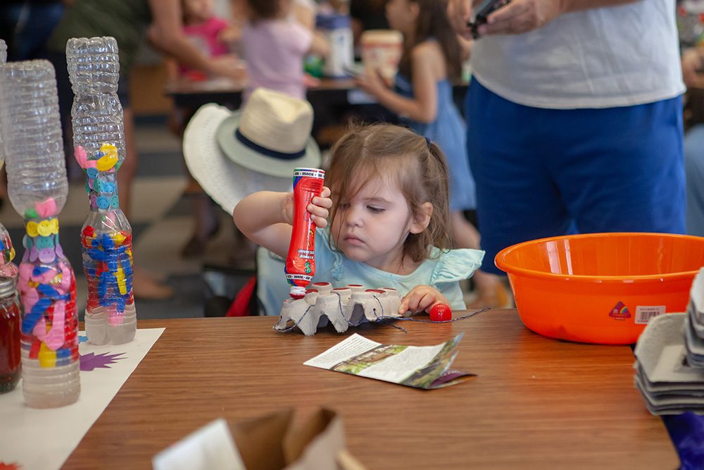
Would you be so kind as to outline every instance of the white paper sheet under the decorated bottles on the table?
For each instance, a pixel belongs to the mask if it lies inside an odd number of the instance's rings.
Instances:
[[[17,464],[21,470],[59,469],[164,329],[138,328],[134,340],[125,345],[80,343],[82,356],[91,352],[122,354],[108,364],[109,368],[81,371],[81,395],[67,407],[27,407],[21,382],[12,392],[0,395],[0,462]]]

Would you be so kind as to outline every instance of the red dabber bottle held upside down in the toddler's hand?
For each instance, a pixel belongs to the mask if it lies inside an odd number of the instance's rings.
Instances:
[[[315,225],[310,219],[308,204],[313,197],[320,196],[323,180],[325,171],[318,168],[294,170],[294,228],[284,267],[286,280],[291,285],[289,295],[294,299],[306,295],[306,286],[315,276]]]

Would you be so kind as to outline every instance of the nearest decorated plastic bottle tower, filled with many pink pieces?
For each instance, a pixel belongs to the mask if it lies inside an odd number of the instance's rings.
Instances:
[[[3,68],[8,194],[25,218],[18,290],[23,395],[30,407],[71,404],[80,395],[73,269],[58,242],[58,213],[68,193],[54,67],[48,61]]]

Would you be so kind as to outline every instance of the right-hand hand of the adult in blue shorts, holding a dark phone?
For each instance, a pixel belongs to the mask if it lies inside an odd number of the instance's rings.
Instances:
[[[513,0],[491,13],[479,36],[520,35],[536,30],[565,13],[562,0]]]

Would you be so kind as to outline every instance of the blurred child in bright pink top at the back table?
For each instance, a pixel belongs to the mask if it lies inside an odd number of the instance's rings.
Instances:
[[[210,57],[230,54],[231,46],[239,40],[240,34],[230,27],[227,20],[214,15],[213,0],[182,0],[181,8],[183,32],[191,43]],[[169,69],[171,79],[199,81],[208,78],[201,70],[189,68],[175,61],[171,61]],[[169,127],[179,137],[183,136],[183,130],[194,111],[187,107],[177,108],[172,112]],[[191,237],[181,249],[181,256],[185,258],[203,254],[208,240],[215,236],[220,228],[215,204],[190,175],[186,194],[191,200],[193,210],[193,230]]]

